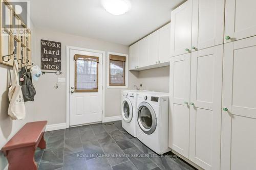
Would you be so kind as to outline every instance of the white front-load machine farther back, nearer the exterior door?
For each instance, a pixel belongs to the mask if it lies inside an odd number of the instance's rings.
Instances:
[[[123,90],[121,91],[122,128],[137,137],[137,94],[148,94],[151,91]]]

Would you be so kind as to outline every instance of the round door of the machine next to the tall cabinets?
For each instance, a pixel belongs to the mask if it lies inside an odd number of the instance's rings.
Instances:
[[[146,102],[142,102],[138,106],[137,120],[140,129],[145,134],[152,134],[157,127],[157,117],[152,106]]]

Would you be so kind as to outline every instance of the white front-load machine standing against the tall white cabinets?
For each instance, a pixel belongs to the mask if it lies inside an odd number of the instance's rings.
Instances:
[[[138,94],[137,138],[157,154],[168,148],[169,94]]]

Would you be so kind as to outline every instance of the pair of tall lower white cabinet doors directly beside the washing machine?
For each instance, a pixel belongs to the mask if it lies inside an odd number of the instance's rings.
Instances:
[[[223,45],[170,59],[169,147],[204,169],[220,167],[222,59]]]

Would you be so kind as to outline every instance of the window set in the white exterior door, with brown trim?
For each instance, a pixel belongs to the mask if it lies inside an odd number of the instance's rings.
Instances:
[[[75,92],[98,92],[99,58],[75,55]]]

